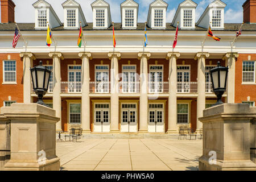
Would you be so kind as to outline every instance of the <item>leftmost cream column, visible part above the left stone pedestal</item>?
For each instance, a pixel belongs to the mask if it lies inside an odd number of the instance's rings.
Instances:
[[[25,104],[32,103],[32,80],[30,68],[33,67],[33,60],[36,59],[35,55],[31,52],[21,52],[20,57],[23,57],[23,102]]]

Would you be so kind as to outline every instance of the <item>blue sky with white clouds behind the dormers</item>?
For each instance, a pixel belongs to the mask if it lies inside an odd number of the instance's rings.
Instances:
[[[31,23],[35,22],[34,17],[34,7],[32,4],[37,0],[13,0],[15,3],[15,20],[18,23]],[[55,10],[56,14],[59,16],[61,22],[63,22],[63,7],[61,3],[66,0],[46,0],[50,3]],[[90,4],[95,0],[76,0],[80,3],[82,11],[84,11],[85,19],[87,22],[92,22],[92,8]],[[114,22],[121,22],[120,15],[120,4],[125,0],[105,0],[110,4],[110,11],[112,14],[112,20]],[[172,22],[177,6],[184,0],[166,0],[169,4],[167,9],[167,23]],[[196,22],[200,18],[201,14],[204,12],[205,8],[210,2],[214,0],[194,0],[197,3],[196,8]],[[227,4],[225,8],[225,23],[242,23],[243,20],[243,8],[242,5],[246,0],[222,0]],[[146,22],[148,7],[154,0],[135,0],[139,3],[139,15],[138,22]]]

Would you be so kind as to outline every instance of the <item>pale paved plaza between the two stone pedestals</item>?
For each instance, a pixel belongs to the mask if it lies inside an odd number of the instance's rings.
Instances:
[[[98,139],[56,142],[61,170],[198,170],[203,140]]]

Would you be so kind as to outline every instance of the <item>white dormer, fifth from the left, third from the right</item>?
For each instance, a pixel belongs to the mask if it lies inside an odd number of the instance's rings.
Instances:
[[[147,26],[152,29],[166,28],[166,10],[168,4],[162,0],[156,0],[150,4],[147,15]]]

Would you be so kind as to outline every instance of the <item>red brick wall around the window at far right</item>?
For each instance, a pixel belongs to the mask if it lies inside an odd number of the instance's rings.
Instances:
[[[242,64],[251,56],[252,61],[256,61],[256,54],[240,54],[236,61],[236,80],[235,80],[235,102],[241,103],[247,101],[247,96],[250,96],[250,101],[256,102],[256,85],[242,85]],[[256,82],[255,82],[256,84]]]

